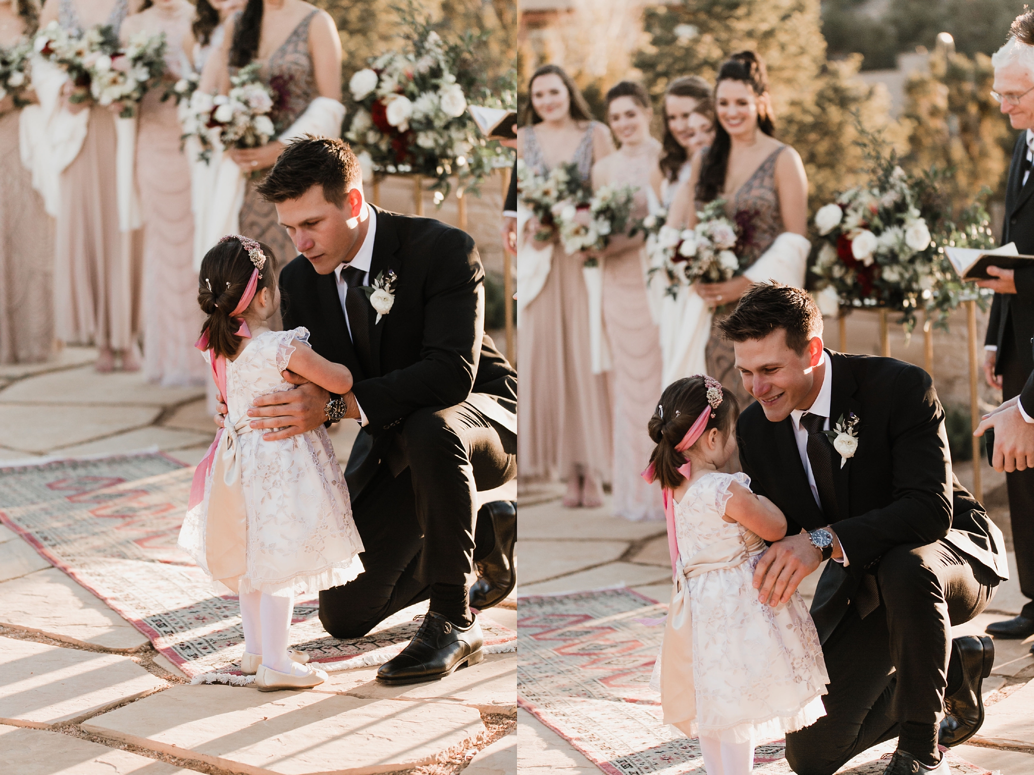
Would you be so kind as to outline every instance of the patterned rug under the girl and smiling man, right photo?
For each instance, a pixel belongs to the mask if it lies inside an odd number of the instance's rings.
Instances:
[[[704,775],[698,741],[663,723],[649,688],[664,627],[637,620],[666,609],[631,589],[521,597],[518,703],[611,775]],[[840,772],[880,775],[893,749],[872,748]],[[948,755],[953,775],[990,775]],[[781,740],[759,745],[754,762],[756,773],[792,772]]]

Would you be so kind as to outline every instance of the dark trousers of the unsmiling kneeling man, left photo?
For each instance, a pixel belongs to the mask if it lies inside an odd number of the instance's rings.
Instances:
[[[334,638],[360,638],[430,596],[433,583],[465,584],[474,570],[477,491],[517,472],[517,437],[468,403],[413,412],[401,437],[409,467],[383,464],[353,503],[366,570],[320,593]]]

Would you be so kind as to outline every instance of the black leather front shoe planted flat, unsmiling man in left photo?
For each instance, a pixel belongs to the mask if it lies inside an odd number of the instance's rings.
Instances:
[[[484,659],[484,646],[477,619],[469,627],[457,627],[444,616],[428,612],[402,653],[381,665],[377,681],[393,685],[437,681],[457,668]]]

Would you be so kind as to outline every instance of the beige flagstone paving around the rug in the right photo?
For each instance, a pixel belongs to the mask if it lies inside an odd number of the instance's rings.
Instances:
[[[960,467],[960,479],[972,472]],[[983,467],[985,501],[996,523],[1005,532],[1011,556],[1008,507],[1004,476]],[[628,522],[610,513],[609,497],[599,508],[565,508],[559,485],[522,487],[520,508],[519,594],[574,592],[629,586],[656,600],[671,594],[671,563],[663,522]],[[811,599],[820,571],[801,585]],[[1026,598],[1015,579],[1001,585],[987,611],[955,629],[955,634],[983,634],[993,621],[1015,616]],[[995,668],[983,683],[986,721],[971,745],[959,753],[1001,775],[1034,772],[1034,656],[1026,641],[996,641]],[[546,775],[590,775],[599,769],[569,741],[524,710],[518,711],[520,772]]]

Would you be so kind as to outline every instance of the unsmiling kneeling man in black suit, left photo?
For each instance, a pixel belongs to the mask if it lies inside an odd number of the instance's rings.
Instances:
[[[468,608],[516,583],[516,513],[477,493],[516,474],[517,374],[484,333],[484,270],[468,235],[366,203],[359,162],[338,140],[287,146],[258,187],[302,253],[280,274],[285,329],[304,326],[324,358],[347,366],[352,393],[299,388],[255,401],[253,427],[286,438],[343,417],[362,431],[345,479],[365,571],[320,593],[335,638],[366,634],[430,598],[409,645],[377,671],[385,683],[449,675],[483,658]],[[477,526],[476,526],[477,521]],[[477,540],[476,540],[477,536]]]

